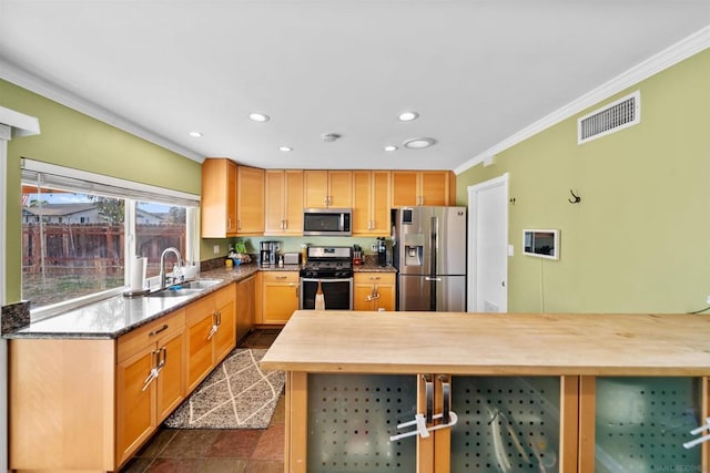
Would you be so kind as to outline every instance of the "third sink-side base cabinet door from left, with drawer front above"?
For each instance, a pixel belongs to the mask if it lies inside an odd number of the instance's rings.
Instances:
[[[212,327],[215,309],[212,296],[203,297],[185,309],[187,391],[195,389],[212,371]]]

